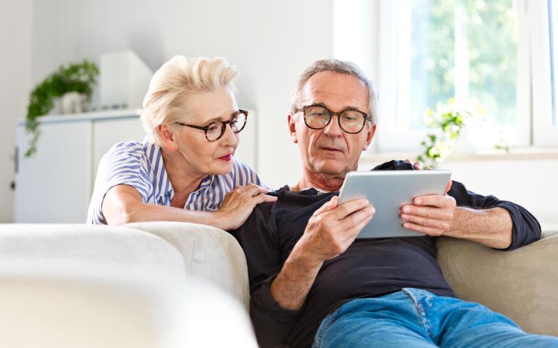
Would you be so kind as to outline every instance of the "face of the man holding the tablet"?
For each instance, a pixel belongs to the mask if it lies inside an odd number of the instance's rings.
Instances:
[[[319,72],[304,86],[298,106],[312,104],[322,104],[333,112],[352,107],[368,113],[368,92],[356,77]],[[291,139],[299,143],[305,170],[329,177],[345,177],[347,172],[356,170],[361,152],[370,145],[376,129],[376,125],[370,127],[366,122],[360,133],[346,133],[339,127],[338,116],[332,116],[324,129],[310,129],[302,111],[289,114],[288,119]]]

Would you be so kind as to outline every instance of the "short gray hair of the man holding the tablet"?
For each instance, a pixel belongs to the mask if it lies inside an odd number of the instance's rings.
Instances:
[[[299,77],[299,80],[296,82],[296,86],[291,93],[291,104],[290,104],[290,111],[294,113],[297,109],[301,107],[299,105],[301,93],[306,86],[306,82],[310,79],[310,77],[314,76],[318,72],[324,71],[331,71],[331,72],[338,72],[339,74],[346,74],[350,76],[354,76],[360,81],[365,84],[366,89],[368,90],[368,116],[372,118],[372,123],[376,123],[377,119],[377,94],[374,86],[372,86],[372,82],[365,76],[362,70],[354,63],[349,61],[340,61],[338,59],[328,58],[322,59],[319,61],[315,61],[312,65],[310,65]]]

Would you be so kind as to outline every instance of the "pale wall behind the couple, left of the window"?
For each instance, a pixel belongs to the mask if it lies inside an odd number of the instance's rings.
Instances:
[[[259,174],[273,187],[298,179],[298,152],[287,134],[289,93],[306,66],[332,54],[333,0],[36,0],[34,6],[33,81],[61,62],[121,49],[133,49],[153,70],[175,54],[225,56],[241,71],[239,106],[257,112]]]

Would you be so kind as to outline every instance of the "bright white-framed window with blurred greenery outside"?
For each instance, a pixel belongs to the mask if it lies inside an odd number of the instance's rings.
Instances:
[[[368,38],[377,47],[368,69],[380,96],[377,150],[418,148],[426,109],[450,97],[483,109],[485,138],[558,145],[558,0],[377,0],[372,10],[365,2],[335,1],[334,23],[346,23],[338,9],[351,6],[348,13],[368,13],[377,24]],[[353,32],[368,30],[361,22]],[[334,26],[334,56],[362,64],[349,45],[337,51],[349,34],[335,28],[342,25]]]

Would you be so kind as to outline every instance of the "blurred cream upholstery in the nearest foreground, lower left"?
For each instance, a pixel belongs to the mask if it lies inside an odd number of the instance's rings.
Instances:
[[[0,347],[257,347],[241,303],[202,280],[83,271],[0,271]]]

